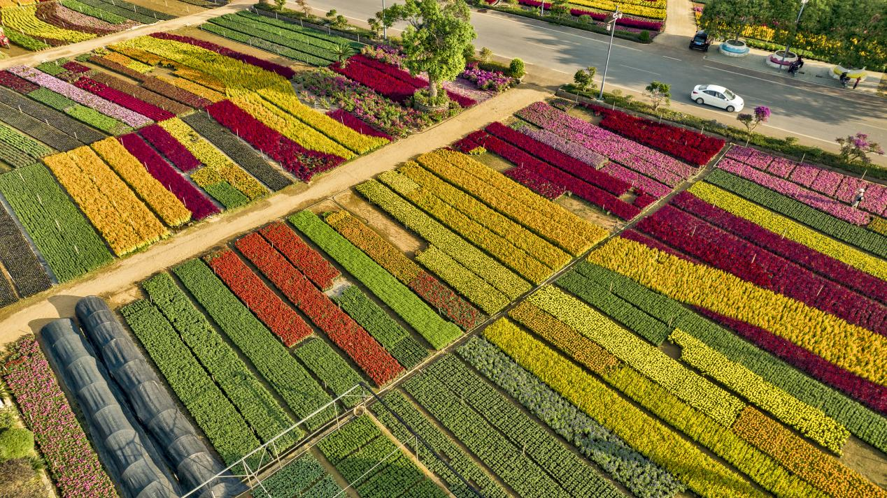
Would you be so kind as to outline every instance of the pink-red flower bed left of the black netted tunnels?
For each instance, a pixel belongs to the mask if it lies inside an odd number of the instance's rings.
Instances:
[[[98,455],[80,424],[49,362],[33,336],[11,348],[3,378],[15,397],[28,429],[62,498],[116,497],[117,492],[98,462]]]

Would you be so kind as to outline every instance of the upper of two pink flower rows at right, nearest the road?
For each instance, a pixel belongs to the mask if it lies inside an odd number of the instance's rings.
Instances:
[[[726,153],[726,157],[848,205],[852,203],[856,191],[860,187],[865,187],[866,197],[860,203],[860,209],[871,214],[887,215],[887,187],[880,183],[867,182],[811,164],[771,156],[750,147],[734,146]]]

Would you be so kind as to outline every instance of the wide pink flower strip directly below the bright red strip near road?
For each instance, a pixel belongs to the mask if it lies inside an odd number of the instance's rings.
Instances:
[[[528,105],[517,115],[670,187],[677,186],[694,173],[694,168],[686,163],[574,118],[545,102]]]

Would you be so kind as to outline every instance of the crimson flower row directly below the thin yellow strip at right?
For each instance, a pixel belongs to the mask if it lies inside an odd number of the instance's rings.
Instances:
[[[810,268],[821,276],[825,276],[829,280],[842,284],[868,298],[887,304],[887,282],[876,276],[853,268],[842,261],[837,261],[826,254],[814,251],[806,245],[782,237],[778,233],[765,230],[754,222],[728,213],[718,206],[712,206],[689,192],[680,192],[671,199],[671,205],[687,211],[687,213],[694,214],[696,217],[710,222],[712,225],[726,230],[751,244],[777,254],[786,260],[793,261],[805,268]]]

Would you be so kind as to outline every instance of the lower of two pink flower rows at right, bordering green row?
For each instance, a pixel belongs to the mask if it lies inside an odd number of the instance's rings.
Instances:
[[[747,164],[724,158],[718,161],[718,167],[734,175],[741,176],[746,180],[763,185],[772,191],[777,191],[782,195],[803,202],[807,206],[815,207],[845,222],[851,222],[856,225],[865,225],[869,222],[868,214],[862,211],[853,209],[851,206],[842,204],[836,199],[828,198],[818,192],[805,189],[797,183],[791,183],[777,176],[768,175],[764,171],[750,167]]]

